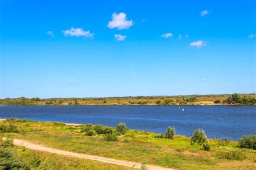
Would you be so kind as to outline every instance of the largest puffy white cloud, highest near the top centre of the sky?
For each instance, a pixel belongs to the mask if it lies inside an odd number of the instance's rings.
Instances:
[[[118,30],[123,30],[129,29],[129,27],[133,24],[134,22],[132,20],[127,20],[126,14],[124,12],[114,12],[112,14],[112,21],[110,21],[109,24],[107,24],[107,27],[110,29],[117,28]]]

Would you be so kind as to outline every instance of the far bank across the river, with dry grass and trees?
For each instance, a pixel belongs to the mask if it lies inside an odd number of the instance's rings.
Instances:
[[[255,105],[255,94],[102,98],[5,98],[0,105]]]

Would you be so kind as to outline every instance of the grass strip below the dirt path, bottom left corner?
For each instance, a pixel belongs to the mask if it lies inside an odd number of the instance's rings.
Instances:
[[[19,169],[130,169],[124,166],[106,164],[103,162],[65,157],[63,155],[51,154],[47,152],[38,152],[26,149],[24,147],[4,148],[0,146],[0,151],[5,151],[12,155],[8,160],[1,158],[0,169],[4,161],[13,162],[12,164],[23,164],[26,168]],[[13,159],[13,161],[11,160]]]

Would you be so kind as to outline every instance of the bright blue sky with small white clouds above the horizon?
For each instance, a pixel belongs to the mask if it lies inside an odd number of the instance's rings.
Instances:
[[[0,5],[0,98],[255,93],[255,1]]]

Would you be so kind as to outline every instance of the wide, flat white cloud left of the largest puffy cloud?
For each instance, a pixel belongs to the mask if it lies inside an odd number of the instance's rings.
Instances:
[[[91,33],[90,31],[84,31],[82,28],[73,28],[71,27],[70,30],[62,31],[64,33],[64,36],[70,36],[70,37],[89,37],[93,38],[94,33]]]

